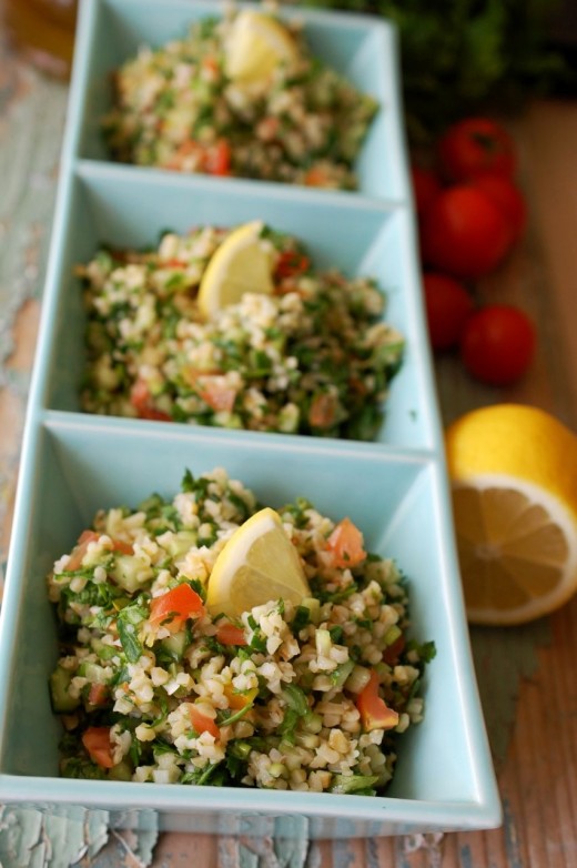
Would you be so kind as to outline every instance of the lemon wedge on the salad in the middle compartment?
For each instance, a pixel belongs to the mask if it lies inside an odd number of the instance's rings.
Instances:
[[[226,235],[209,261],[199,286],[199,310],[209,319],[245,292],[270,295],[274,290],[271,253],[261,239],[263,223],[243,223]]]

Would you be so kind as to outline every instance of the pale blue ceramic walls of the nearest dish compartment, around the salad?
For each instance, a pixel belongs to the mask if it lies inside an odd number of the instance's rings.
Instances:
[[[186,787],[58,777],[60,724],[48,676],[57,659],[45,575],[100,507],[134,506],[152,492],[175,494],[186,468],[224,467],[259,498],[281,506],[297,496],[340,519],[365,545],[393,557],[408,581],[412,634],[433,639],[425,718],[398,743],[386,796],[336,796],[230,787]],[[335,466],[338,471],[335,472]],[[161,828],[281,835],[388,835],[485,828],[499,805],[472,667],[441,468],[426,457],[364,450],[327,452],[279,438],[176,426],[156,430],[54,414],[31,426],[22,465],[0,634],[0,801],[158,810]],[[418,545],[415,541],[418,539]],[[42,737],[39,738],[38,734]],[[41,794],[41,795],[39,795]]]

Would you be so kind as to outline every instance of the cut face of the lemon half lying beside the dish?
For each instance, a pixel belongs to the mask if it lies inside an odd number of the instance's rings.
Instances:
[[[543,489],[506,476],[453,489],[467,616],[476,624],[522,624],[573,596],[575,517]]]

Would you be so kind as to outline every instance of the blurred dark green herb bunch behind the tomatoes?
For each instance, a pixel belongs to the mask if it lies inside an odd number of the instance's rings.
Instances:
[[[567,87],[571,73],[547,41],[555,0],[301,0],[383,16],[401,40],[407,134],[424,143],[465,114],[518,111]]]

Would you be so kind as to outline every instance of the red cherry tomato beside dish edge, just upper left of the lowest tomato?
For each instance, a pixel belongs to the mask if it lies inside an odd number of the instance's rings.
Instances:
[[[423,275],[423,289],[433,350],[456,346],[473,312],[473,299],[462,283],[432,271]]]

